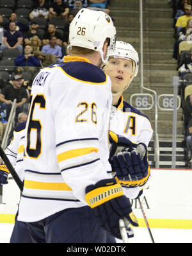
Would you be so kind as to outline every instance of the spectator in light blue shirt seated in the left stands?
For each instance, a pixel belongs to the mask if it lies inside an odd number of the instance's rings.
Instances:
[[[62,58],[62,52],[61,47],[56,45],[57,38],[51,37],[51,40],[49,41],[49,44],[42,47],[42,52],[46,54],[52,54],[56,56],[56,62],[60,62]]]

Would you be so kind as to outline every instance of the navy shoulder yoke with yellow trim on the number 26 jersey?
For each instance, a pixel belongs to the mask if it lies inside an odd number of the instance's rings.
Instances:
[[[106,74],[97,66],[88,62],[61,62],[49,68],[60,67],[68,76],[87,83],[106,83]]]

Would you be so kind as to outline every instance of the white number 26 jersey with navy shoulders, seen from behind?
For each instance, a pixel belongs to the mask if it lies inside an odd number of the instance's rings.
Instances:
[[[111,173],[111,80],[99,67],[65,56],[37,74],[31,96],[18,215],[26,222],[87,205],[86,186]]]

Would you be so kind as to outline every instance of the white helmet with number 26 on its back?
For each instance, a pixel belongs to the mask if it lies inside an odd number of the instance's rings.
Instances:
[[[109,38],[108,53],[104,59],[102,47]],[[99,51],[102,62],[107,62],[109,52],[115,49],[116,29],[108,14],[82,8],[70,23],[70,46],[79,46]]]

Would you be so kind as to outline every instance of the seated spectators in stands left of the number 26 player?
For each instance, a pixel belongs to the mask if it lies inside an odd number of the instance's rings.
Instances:
[[[109,4],[109,0],[7,0],[6,8],[0,5],[0,60],[10,59],[14,66],[4,76],[6,64],[0,62],[0,132],[6,128],[13,99],[17,99],[15,125],[19,114],[28,112],[38,70],[67,55],[69,26],[76,13],[89,8],[109,14]]]

